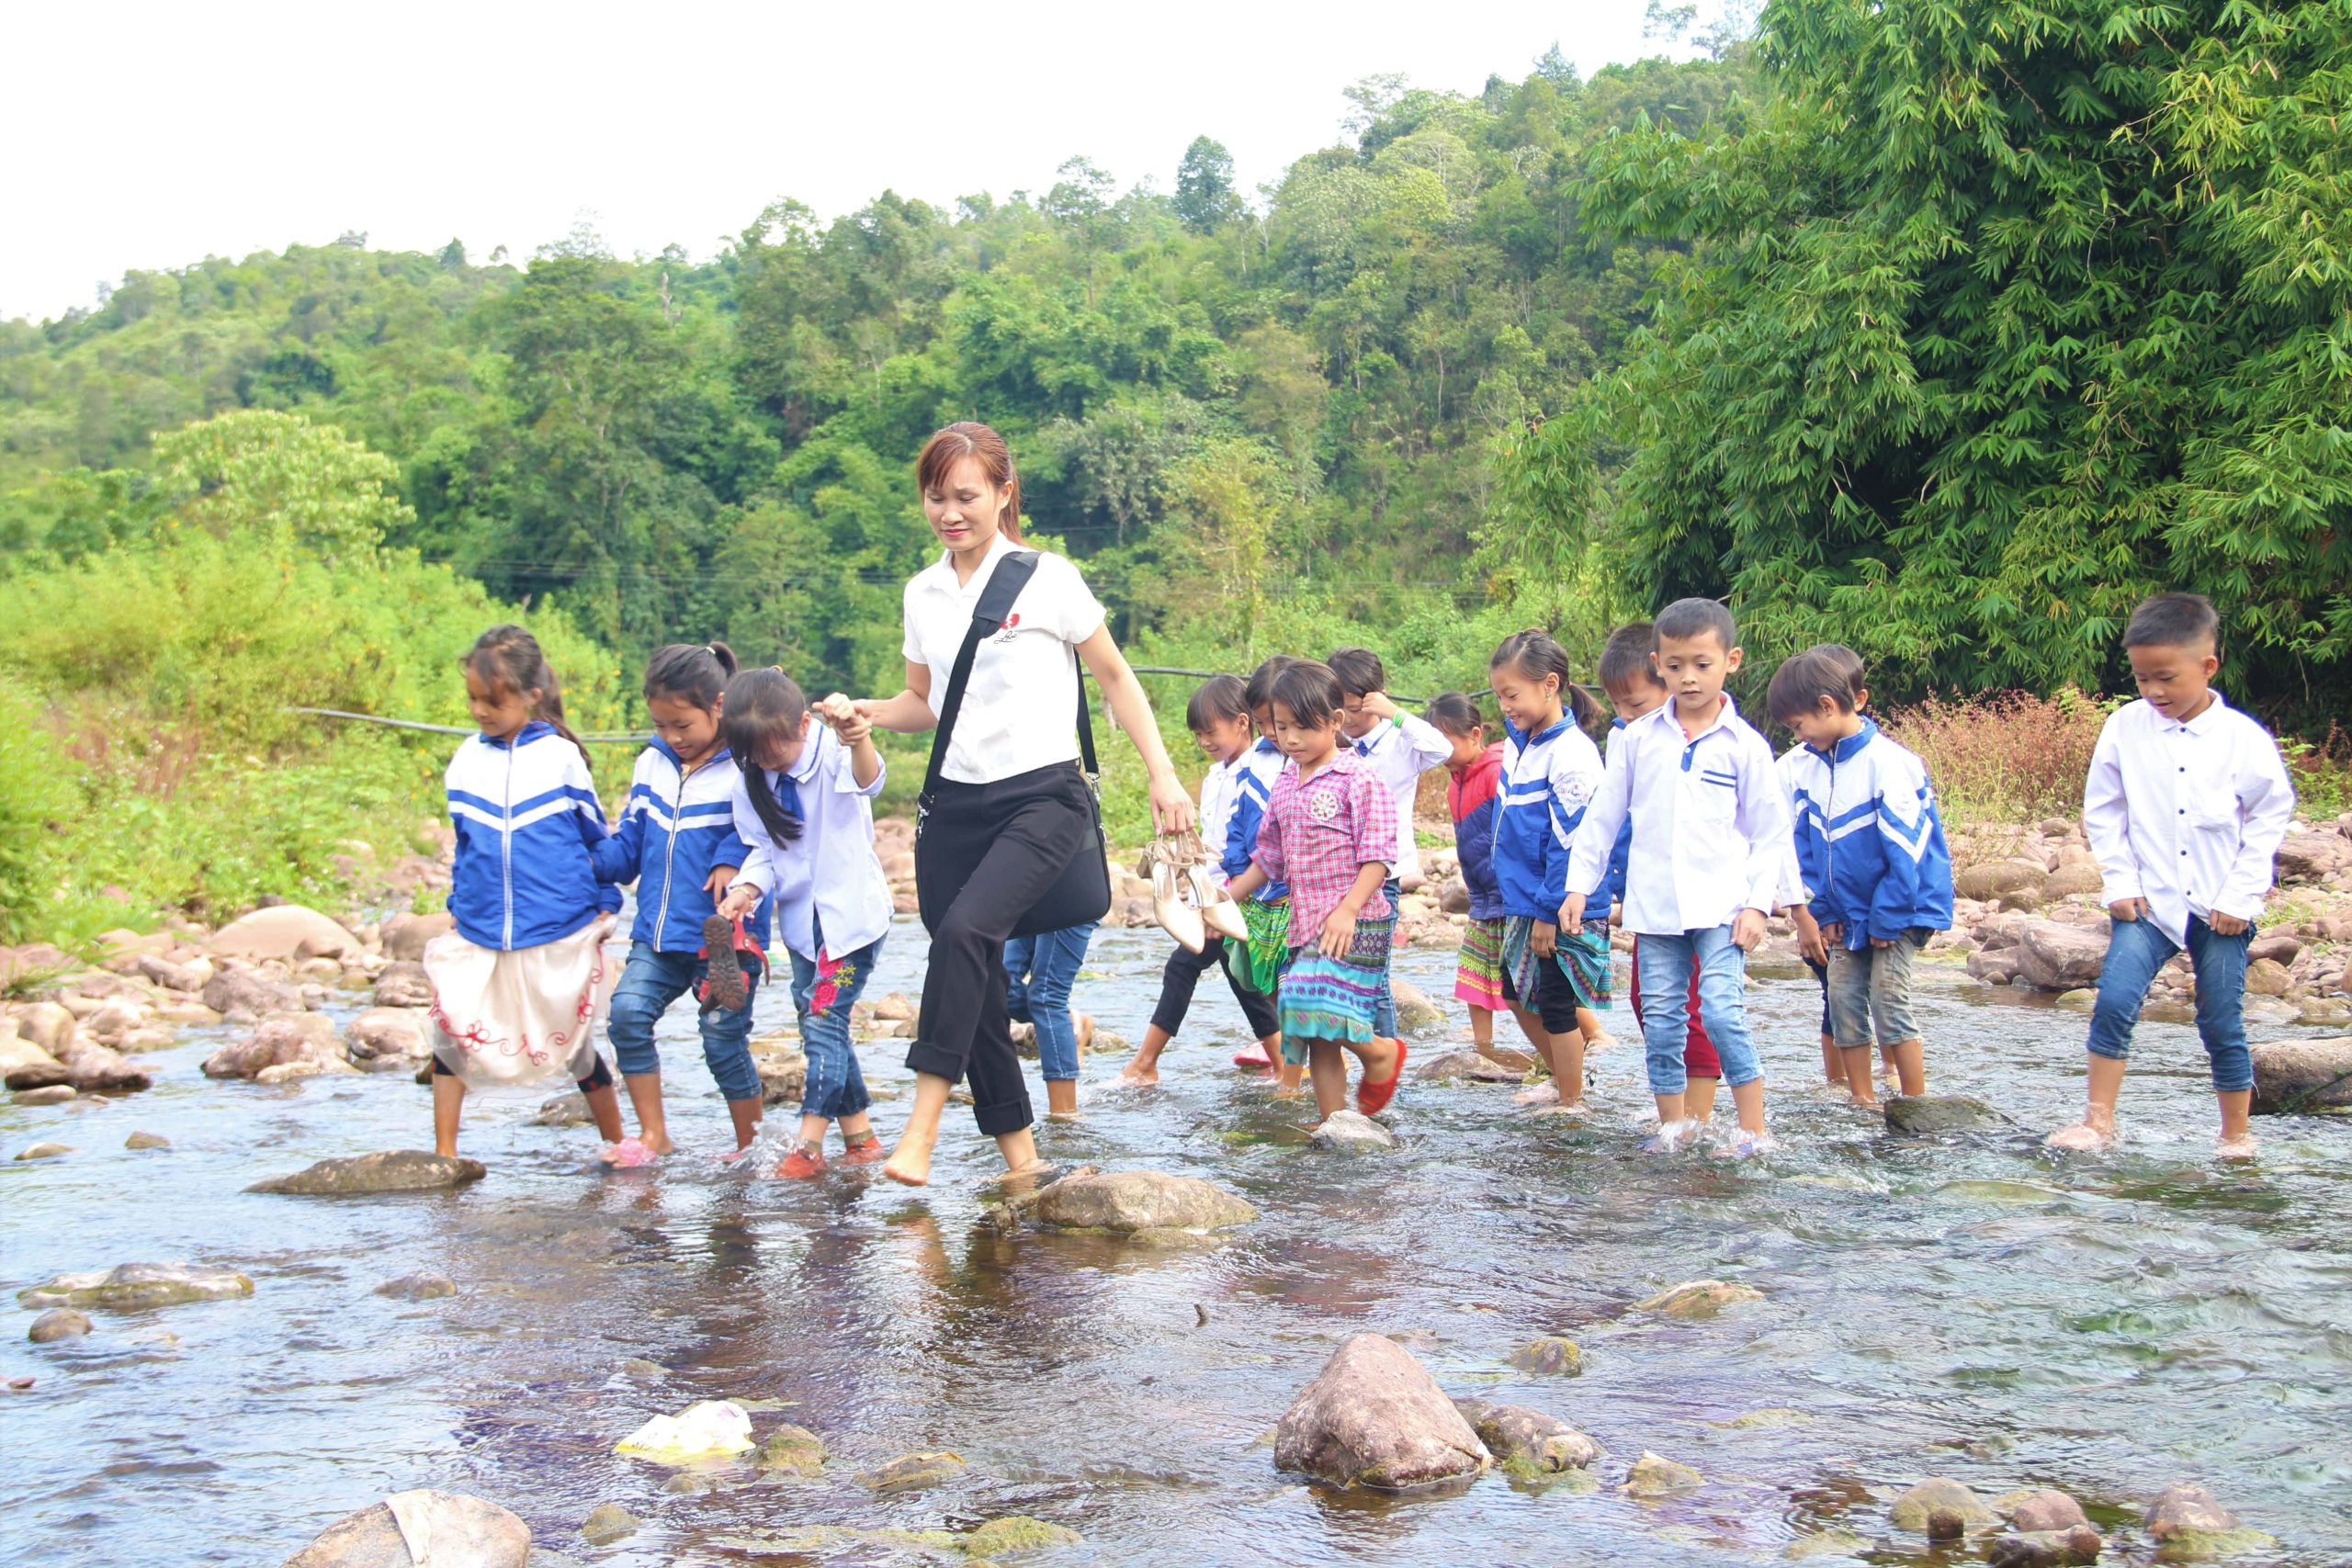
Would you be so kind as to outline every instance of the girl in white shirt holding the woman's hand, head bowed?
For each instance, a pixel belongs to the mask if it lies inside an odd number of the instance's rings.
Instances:
[[[776,905],[776,933],[793,957],[793,1011],[809,1077],[800,1133],[776,1175],[826,1171],[826,1128],[842,1124],[842,1164],[884,1157],[866,1119],[866,1077],[849,1048],[849,1009],[873,978],[889,931],[889,879],[875,856],[873,799],[882,752],[873,724],[844,696],[816,708],[783,670],[746,670],[727,682],[724,741],[734,755],[729,806],[748,846],[722,917]]]

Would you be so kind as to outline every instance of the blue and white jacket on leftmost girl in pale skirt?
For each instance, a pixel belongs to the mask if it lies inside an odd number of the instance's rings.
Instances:
[[[588,759],[553,726],[468,738],[442,783],[456,827],[449,914],[468,943],[543,947],[621,907],[621,891],[595,877],[609,835]]]

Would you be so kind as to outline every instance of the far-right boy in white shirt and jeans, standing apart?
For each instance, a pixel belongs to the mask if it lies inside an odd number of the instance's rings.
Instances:
[[[2218,637],[2220,618],[2194,592],[2159,592],[2124,628],[2140,701],[2107,717],[2082,788],[2082,827],[2112,917],[2091,1009],[2091,1091],[2082,1121],[2049,1135],[2053,1150],[2114,1143],[2114,1100],[2140,999],[2157,971],[2187,950],[2197,966],[2197,1034],[2220,1098],[2218,1152],[2253,1159],[2246,950],[2296,813],[2296,788],[2270,731],[2213,691]]]

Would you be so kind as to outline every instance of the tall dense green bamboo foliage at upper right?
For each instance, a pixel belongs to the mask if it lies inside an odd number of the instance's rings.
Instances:
[[[2112,682],[2192,588],[2234,693],[2343,712],[2352,7],[1778,0],[1762,49],[1755,120],[1592,158],[1592,233],[1698,259],[1519,505],[1882,691]]]

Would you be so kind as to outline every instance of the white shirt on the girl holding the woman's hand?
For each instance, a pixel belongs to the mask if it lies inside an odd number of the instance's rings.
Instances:
[[[734,886],[750,884],[769,893],[776,938],[809,961],[818,957],[818,924],[826,929],[826,952],[840,959],[880,943],[891,914],[889,877],[875,856],[873,811],[889,766],[870,785],[861,785],[842,738],[823,724],[814,731],[790,773],[800,795],[797,839],[771,837],[741,776],[734,788],[736,837],[750,844]],[[781,773],[767,778],[774,788]]]

